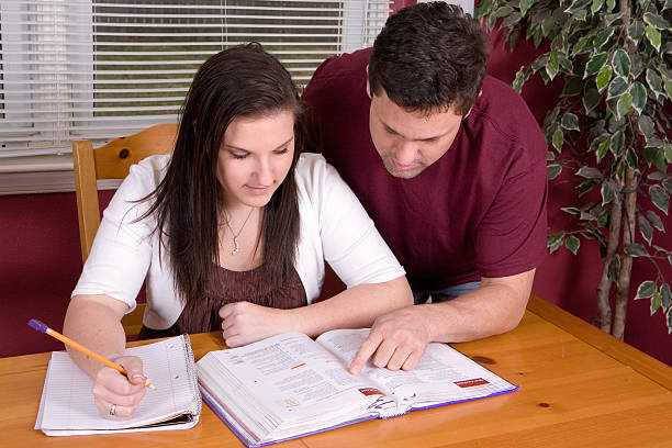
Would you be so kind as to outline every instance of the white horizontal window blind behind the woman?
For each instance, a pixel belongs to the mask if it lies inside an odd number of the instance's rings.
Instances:
[[[372,45],[390,11],[387,0],[2,0],[0,158],[176,122],[200,64],[246,42],[302,88],[325,58]]]

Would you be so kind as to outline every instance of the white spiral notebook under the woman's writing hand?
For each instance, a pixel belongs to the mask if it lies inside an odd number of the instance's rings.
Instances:
[[[143,360],[145,373],[156,389],[148,389],[128,421],[100,416],[89,378],[65,351],[52,352],[42,390],[35,429],[47,436],[111,434],[190,428],[201,415],[201,395],[191,345],[187,336],[172,337],[126,355]]]

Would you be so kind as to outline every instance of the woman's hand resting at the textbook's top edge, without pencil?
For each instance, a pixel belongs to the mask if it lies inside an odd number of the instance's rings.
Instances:
[[[278,310],[249,302],[227,303],[220,309],[222,335],[228,347],[239,347],[270,336],[300,331],[292,310]]]

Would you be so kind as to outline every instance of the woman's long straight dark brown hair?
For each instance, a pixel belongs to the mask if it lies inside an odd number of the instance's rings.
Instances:
[[[294,157],[287,178],[264,208],[260,229],[261,269],[273,285],[292,275],[299,238],[294,167],[304,142],[299,93],[287,69],[256,43],[210,57],[195,74],[166,177],[145,198],[153,202],[141,217],[156,215],[161,249],[167,248],[184,303],[203,298],[217,269],[224,205],[216,164],[226,128],[238,116],[288,110],[294,114]]]

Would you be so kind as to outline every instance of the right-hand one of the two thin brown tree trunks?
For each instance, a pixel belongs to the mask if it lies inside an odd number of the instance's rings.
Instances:
[[[625,208],[624,228],[623,228],[623,247],[635,242],[635,211],[637,208],[637,176],[635,169],[626,165],[625,172]],[[628,299],[630,296],[630,277],[632,273],[632,257],[623,254],[620,258],[620,272],[618,272],[618,290],[616,293],[616,304],[614,305],[614,328],[612,334],[619,340],[623,340],[625,333],[626,311]]]

